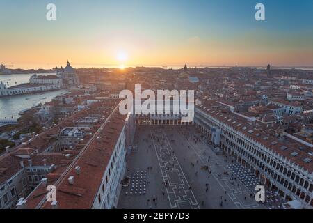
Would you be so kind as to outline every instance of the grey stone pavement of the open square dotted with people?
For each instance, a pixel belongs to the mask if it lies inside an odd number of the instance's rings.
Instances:
[[[146,193],[122,188],[118,208],[266,208],[240,180],[230,180],[231,157],[216,155],[200,138],[193,126],[138,126],[125,176],[147,171]]]

